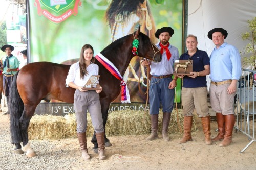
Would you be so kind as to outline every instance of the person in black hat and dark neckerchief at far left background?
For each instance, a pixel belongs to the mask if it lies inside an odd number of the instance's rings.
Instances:
[[[12,77],[16,74],[19,61],[16,57],[12,55],[12,51],[14,50],[14,47],[12,45],[4,45],[2,46],[1,50],[6,53],[6,57],[3,57],[0,62],[2,64],[3,68],[3,85],[4,85],[4,93],[7,99],[7,103],[9,101],[9,93],[10,93],[10,87],[12,83]],[[9,114],[8,111],[4,114]]]

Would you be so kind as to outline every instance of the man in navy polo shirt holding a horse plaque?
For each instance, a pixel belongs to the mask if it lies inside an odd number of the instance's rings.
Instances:
[[[187,52],[180,56],[180,60],[193,60],[193,74],[191,76],[179,75],[183,78],[181,101],[184,115],[184,135],[179,143],[192,140],[191,127],[193,112],[196,109],[201,117],[205,144],[211,145],[210,138],[210,113],[207,105],[207,82],[206,75],[210,74],[210,61],[205,51],[198,50],[197,37],[189,34],[186,38]]]

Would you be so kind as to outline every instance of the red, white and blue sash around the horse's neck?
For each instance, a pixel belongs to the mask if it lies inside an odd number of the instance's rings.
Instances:
[[[128,87],[123,80],[120,72],[116,68],[116,66],[107,58],[105,58],[102,54],[97,54],[95,58],[106,68],[108,69],[113,76],[115,76],[118,80],[121,81],[121,103],[131,103],[130,94]]]

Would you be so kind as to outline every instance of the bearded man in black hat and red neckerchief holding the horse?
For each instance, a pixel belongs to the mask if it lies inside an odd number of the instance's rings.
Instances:
[[[174,87],[176,86],[177,76],[172,78],[174,72],[174,62],[179,59],[179,51],[176,47],[169,44],[169,39],[174,34],[171,27],[163,27],[155,33],[156,38],[160,39],[157,47],[162,54],[161,62],[150,62],[145,60],[143,66],[150,65],[150,116],[151,116],[151,135],[146,140],[158,138],[158,114],[160,105],[163,110],[162,136],[165,141],[169,141],[168,126],[170,113],[174,107]]]

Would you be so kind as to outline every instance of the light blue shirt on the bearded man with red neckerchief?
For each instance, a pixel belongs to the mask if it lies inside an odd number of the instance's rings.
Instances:
[[[161,49],[159,43],[157,44],[157,47]],[[169,48],[170,54],[172,54],[172,56],[170,57],[170,60],[167,59],[166,52],[164,50],[162,54],[162,60],[160,62],[151,62],[151,65],[150,65],[151,75],[162,76],[162,75],[173,74],[174,62],[175,60],[179,60],[180,55],[179,55],[178,48],[172,45],[169,45],[168,48]]]

